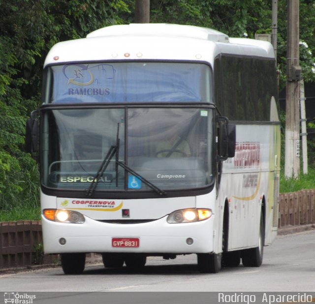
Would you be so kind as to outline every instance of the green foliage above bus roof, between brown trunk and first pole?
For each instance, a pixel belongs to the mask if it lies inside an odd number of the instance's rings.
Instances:
[[[270,1],[264,0],[152,0],[152,22],[213,28],[242,37],[270,27]]]

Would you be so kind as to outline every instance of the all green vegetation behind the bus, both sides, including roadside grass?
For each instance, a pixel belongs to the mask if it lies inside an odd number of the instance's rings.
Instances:
[[[278,2],[282,88],[286,74],[287,1]],[[271,3],[151,0],[151,22],[204,26],[230,36],[253,38],[255,33],[271,33]],[[131,23],[134,8],[135,0],[0,0],[0,221],[40,219],[38,169],[24,150],[24,135],[26,119],[40,105],[42,66],[48,50],[58,41],[81,38],[113,24]],[[300,20],[303,77],[315,81],[313,0],[300,0]],[[310,148],[314,151],[314,143]],[[281,191],[312,187],[314,178],[310,176],[314,171],[310,172],[299,181],[282,178]]]

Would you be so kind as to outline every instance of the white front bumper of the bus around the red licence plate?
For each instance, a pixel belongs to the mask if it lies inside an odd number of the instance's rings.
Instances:
[[[209,253],[214,248],[213,217],[182,224],[167,223],[167,216],[139,224],[103,223],[86,217],[83,224],[69,224],[42,216],[44,252]],[[138,244],[115,247],[113,239],[138,239]]]

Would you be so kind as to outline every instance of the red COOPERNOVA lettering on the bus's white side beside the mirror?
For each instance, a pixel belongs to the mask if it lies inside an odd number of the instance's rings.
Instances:
[[[234,167],[259,168],[260,142],[236,142]]]

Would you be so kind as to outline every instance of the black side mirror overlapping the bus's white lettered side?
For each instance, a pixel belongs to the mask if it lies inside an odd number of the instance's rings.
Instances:
[[[217,117],[218,161],[225,161],[235,155],[236,126],[224,116]]]

